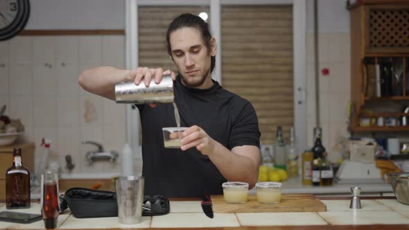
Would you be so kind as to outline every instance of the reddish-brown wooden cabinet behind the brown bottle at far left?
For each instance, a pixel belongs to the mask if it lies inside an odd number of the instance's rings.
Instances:
[[[0,146],[0,200],[6,200],[6,170],[12,166],[12,150],[21,148],[21,160],[34,173],[34,143]]]

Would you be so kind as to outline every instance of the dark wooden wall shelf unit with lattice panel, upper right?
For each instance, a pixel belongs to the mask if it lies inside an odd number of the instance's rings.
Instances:
[[[359,1],[351,15],[351,132],[409,132],[409,1]],[[381,122],[382,121],[382,122]],[[403,121],[405,121],[403,123]]]

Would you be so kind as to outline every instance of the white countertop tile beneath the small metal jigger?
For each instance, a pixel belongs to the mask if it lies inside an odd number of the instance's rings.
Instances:
[[[327,206],[327,211],[354,211],[354,209],[349,209],[349,200],[321,200],[322,203]],[[383,211],[391,209],[376,200],[360,200],[362,204],[362,209],[357,211]]]

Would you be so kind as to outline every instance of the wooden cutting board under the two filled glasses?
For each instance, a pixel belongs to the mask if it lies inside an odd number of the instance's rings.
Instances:
[[[227,204],[223,195],[212,195],[215,213],[278,213],[327,211],[327,206],[311,194],[283,194],[279,204],[260,204],[256,195],[248,196],[245,204]]]

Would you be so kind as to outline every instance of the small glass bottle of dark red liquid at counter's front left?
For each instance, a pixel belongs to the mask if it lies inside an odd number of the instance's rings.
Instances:
[[[58,224],[58,175],[47,170],[42,175],[42,218],[46,229],[55,229]]]

